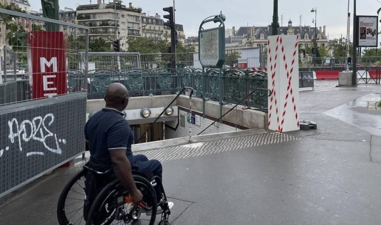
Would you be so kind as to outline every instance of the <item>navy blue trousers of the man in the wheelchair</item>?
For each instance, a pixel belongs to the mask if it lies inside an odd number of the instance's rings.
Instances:
[[[162,172],[163,168],[161,163],[156,159],[148,160],[148,158],[144,155],[135,155],[134,162],[131,163],[131,167],[133,170],[136,170],[140,173],[143,173],[147,176],[148,179],[151,179],[154,176],[157,176],[162,180]],[[161,185],[157,184],[155,188],[155,192],[157,195],[157,201],[159,202],[161,199]]]

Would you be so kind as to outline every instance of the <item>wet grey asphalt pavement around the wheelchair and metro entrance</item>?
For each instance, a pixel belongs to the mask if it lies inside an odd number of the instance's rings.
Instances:
[[[381,111],[365,103],[381,99],[381,86],[329,86],[300,92],[300,117],[317,122],[318,130],[143,152],[163,161],[166,192],[175,201],[171,223],[380,224]],[[0,202],[0,223],[57,224],[57,200],[76,164]]]

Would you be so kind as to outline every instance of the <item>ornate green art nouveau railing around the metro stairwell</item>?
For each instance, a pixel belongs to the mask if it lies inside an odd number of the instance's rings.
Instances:
[[[69,73],[70,91],[80,90],[83,76],[77,71]],[[220,84],[222,81],[222,84]],[[126,69],[117,70],[96,69],[88,72],[88,99],[104,97],[106,88],[112,83],[121,83],[127,87],[131,96],[153,96],[176,94],[183,87],[192,87],[194,97],[205,100],[219,101],[220,89],[224,104],[238,103],[251,90],[255,91],[244,104],[267,111],[267,73],[263,71],[224,70],[222,79],[218,69],[170,68]]]

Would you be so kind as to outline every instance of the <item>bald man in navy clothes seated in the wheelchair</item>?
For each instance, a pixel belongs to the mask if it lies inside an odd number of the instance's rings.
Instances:
[[[159,178],[157,180],[160,180],[160,185],[154,185],[157,203],[160,206],[157,208],[157,214],[161,213],[163,208],[171,209],[174,204],[166,201],[164,190],[161,190],[161,163],[155,159],[149,160],[144,155],[134,156],[131,151],[134,134],[122,112],[129,101],[127,88],[120,83],[113,83],[107,88],[104,99],[106,107],[91,116],[85,127],[85,137],[90,149],[90,161],[87,166],[96,171],[112,168],[114,173],[108,175],[106,180],[116,177],[127,189],[134,207],[141,203],[143,195],[135,185],[132,171],[144,174],[151,183],[155,182],[152,178]],[[91,182],[95,181],[87,179],[86,185],[91,185]],[[147,215],[152,213],[149,210],[144,212]]]

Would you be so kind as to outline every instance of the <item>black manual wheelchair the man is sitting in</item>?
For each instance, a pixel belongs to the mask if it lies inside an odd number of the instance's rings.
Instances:
[[[157,217],[157,207],[163,211],[158,225],[169,225],[168,218],[171,211],[168,208],[167,197],[161,180],[155,176],[151,179],[132,171],[133,179],[138,190],[143,195],[143,201],[139,206],[132,206],[128,191],[116,178],[110,182],[107,180],[112,173],[97,171],[88,166],[71,178],[63,189],[57,205],[57,218],[60,225],[154,225]],[[107,180],[107,184],[101,187],[100,192],[92,201],[87,218],[84,216],[86,196],[86,174],[93,173],[96,179]],[[155,186],[161,190],[161,201],[157,203]],[[149,213],[146,213],[149,212]]]

